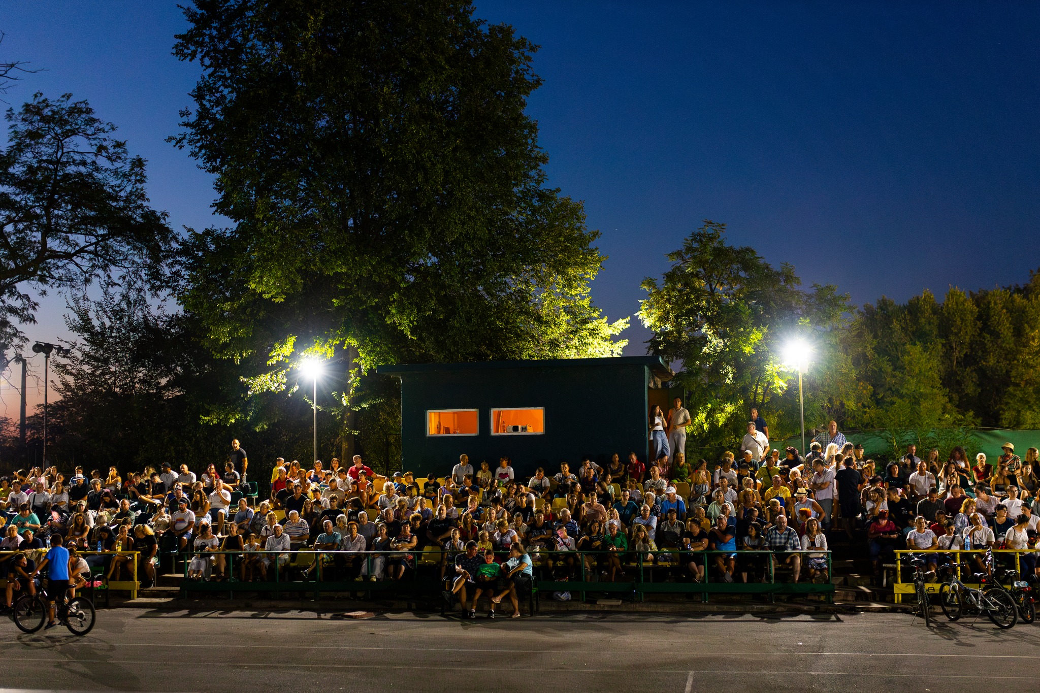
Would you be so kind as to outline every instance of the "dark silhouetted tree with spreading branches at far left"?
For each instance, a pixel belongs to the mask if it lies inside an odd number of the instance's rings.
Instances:
[[[7,111],[0,152],[0,342],[21,341],[32,292],[160,288],[174,240],[151,208],[145,160],[85,101],[41,94]]]

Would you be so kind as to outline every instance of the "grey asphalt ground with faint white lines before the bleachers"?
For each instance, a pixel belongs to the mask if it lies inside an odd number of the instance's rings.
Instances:
[[[0,620],[2,686],[124,691],[1033,690],[1040,625],[909,615],[99,610],[82,638]]]

